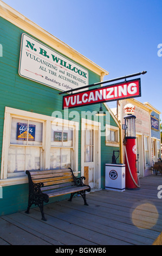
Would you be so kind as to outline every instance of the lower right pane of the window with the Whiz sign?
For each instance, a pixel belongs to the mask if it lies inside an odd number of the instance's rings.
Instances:
[[[26,147],[26,169],[40,170],[40,152],[39,147]]]

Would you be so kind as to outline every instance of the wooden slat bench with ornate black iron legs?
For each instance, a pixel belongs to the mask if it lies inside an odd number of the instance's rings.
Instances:
[[[60,170],[26,170],[29,180],[28,208],[25,211],[29,214],[31,205],[35,204],[41,210],[42,220],[46,221],[43,212],[43,202],[48,203],[49,198],[71,194],[69,201],[75,193],[80,194],[86,202],[86,191],[90,192],[90,186],[83,184],[84,176],[77,178],[71,168]]]

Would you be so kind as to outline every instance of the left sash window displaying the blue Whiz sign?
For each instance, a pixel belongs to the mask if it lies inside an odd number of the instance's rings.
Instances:
[[[43,121],[11,116],[8,151],[8,177],[24,170],[40,170],[43,143]]]

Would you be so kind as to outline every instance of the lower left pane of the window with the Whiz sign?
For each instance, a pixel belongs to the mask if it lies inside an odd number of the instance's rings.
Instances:
[[[8,173],[24,172],[25,147],[11,146],[8,155]]]

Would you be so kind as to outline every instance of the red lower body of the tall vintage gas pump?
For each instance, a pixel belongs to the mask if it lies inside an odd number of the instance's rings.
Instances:
[[[126,188],[133,190],[133,189],[137,188],[135,183],[138,184],[135,138],[127,138],[125,147],[126,147],[127,158],[128,158],[128,163],[129,163],[129,167],[128,167],[126,154],[125,154]],[[129,168],[131,170],[131,173],[132,173],[135,183],[132,180],[131,174],[129,173]]]

